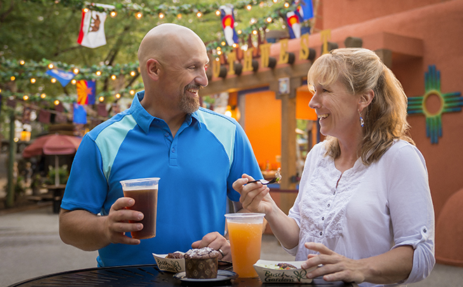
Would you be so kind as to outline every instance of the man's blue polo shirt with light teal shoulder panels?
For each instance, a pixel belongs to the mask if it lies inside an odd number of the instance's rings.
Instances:
[[[109,244],[99,251],[101,267],[155,263],[152,253],[186,252],[209,232],[223,234],[227,196],[239,200],[233,182],[243,173],[262,178],[234,119],[199,108],[173,138],[166,122],[142,107],[144,96],[137,93],[129,109],[83,137],[62,199],[67,210],[107,215],[123,196],[120,180],[161,178],[156,237]]]

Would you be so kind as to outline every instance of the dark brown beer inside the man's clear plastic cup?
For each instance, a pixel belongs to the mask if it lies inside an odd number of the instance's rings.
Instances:
[[[156,236],[156,211],[158,206],[158,189],[125,190],[124,196],[135,199],[135,204],[128,207],[133,211],[140,211],[145,216],[140,221],[130,220],[130,223],[140,222],[143,229],[130,232],[132,238],[148,239]]]

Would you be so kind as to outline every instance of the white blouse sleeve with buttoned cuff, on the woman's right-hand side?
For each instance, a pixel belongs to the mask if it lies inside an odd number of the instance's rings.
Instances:
[[[434,208],[429,190],[426,163],[421,152],[403,145],[389,165],[388,204],[394,232],[394,246],[410,245],[413,267],[405,283],[426,278],[434,258]]]

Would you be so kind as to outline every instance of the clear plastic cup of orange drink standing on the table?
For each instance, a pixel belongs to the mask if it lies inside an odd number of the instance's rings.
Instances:
[[[233,271],[241,278],[257,277],[253,265],[260,259],[264,213],[229,213],[227,227]]]

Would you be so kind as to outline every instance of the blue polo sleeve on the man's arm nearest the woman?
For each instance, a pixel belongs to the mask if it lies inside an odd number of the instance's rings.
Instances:
[[[263,178],[257,159],[255,159],[253,147],[250,145],[243,128],[236,122],[233,163],[231,163],[227,178],[227,195],[231,201],[239,201],[240,194],[233,189],[232,185],[235,180],[241,178],[243,173],[255,179]]]

